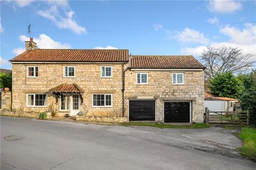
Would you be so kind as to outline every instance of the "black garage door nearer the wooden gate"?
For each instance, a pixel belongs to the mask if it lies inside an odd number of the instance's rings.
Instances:
[[[190,102],[165,102],[164,103],[165,123],[189,123]]]

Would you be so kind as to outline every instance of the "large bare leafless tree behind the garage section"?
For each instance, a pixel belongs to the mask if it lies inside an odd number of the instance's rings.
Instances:
[[[219,73],[244,73],[253,67],[253,55],[244,54],[242,49],[233,47],[207,47],[199,60],[206,67],[205,78],[214,78]]]

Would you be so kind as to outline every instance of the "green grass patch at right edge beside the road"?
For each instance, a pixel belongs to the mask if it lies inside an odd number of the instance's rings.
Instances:
[[[242,128],[239,138],[243,140],[240,154],[256,162],[256,128]]]

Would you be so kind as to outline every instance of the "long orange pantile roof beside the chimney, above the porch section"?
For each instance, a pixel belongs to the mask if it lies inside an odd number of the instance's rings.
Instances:
[[[127,49],[35,49],[11,62],[128,62]]]

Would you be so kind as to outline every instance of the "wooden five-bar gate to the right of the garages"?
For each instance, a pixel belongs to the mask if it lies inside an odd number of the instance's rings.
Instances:
[[[204,122],[212,124],[249,124],[248,111],[235,112],[209,112],[205,108]]]

